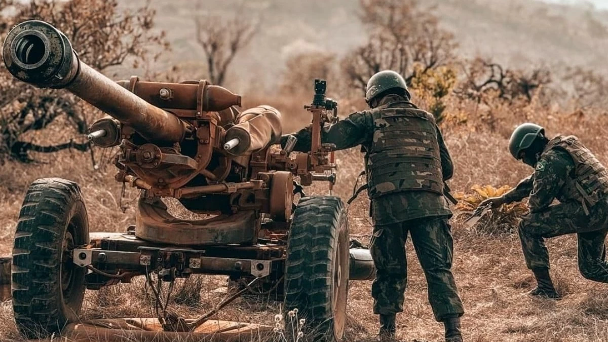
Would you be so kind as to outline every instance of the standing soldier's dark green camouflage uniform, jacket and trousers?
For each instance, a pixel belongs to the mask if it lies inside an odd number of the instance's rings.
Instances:
[[[452,233],[448,218],[451,217],[452,212],[441,195],[443,180],[451,178],[453,173],[452,160],[439,128],[432,122],[434,127],[432,136],[437,136],[435,143],[438,144],[438,156],[440,156],[440,161],[437,162],[440,170],[437,172],[443,175],[443,179],[434,180],[430,177],[419,181],[420,184],[416,184],[419,188],[415,190],[401,189],[399,186],[404,184],[404,181],[396,182],[394,186],[390,184],[389,187],[386,183],[374,184],[373,180],[370,181],[373,177],[371,175],[375,170],[376,172],[381,170],[373,169],[371,163],[373,159],[371,152],[374,151],[375,146],[378,150],[378,125],[379,122],[384,122],[377,118],[377,111],[380,108],[417,110],[411,103],[406,102],[404,97],[393,94],[384,97],[378,108],[350,114],[347,119],[326,127],[322,132],[323,143],[336,144],[337,150],[362,145],[362,150],[367,152],[366,171],[368,184],[371,183],[368,195],[371,198],[370,215],[374,223],[370,250],[377,269],[371,289],[371,295],[375,299],[374,313],[390,315],[403,311],[404,291],[407,285],[405,243],[407,233],[410,232],[427,279],[429,301],[435,318],[443,321],[448,316],[461,316],[464,309],[451,272]],[[426,112],[421,114],[424,113]],[[310,149],[310,133],[309,128],[295,133],[298,138],[295,150]],[[283,144],[285,139],[286,137],[283,138]],[[412,155],[415,153],[412,152]],[[393,167],[405,168],[399,166],[401,161],[391,162],[394,159],[390,158],[390,155],[382,156],[381,159],[376,159],[376,162],[392,163]],[[405,158],[415,159],[412,156]],[[433,184],[437,181],[441,183]],[[430,189],[433,186],[434,189]],[[388,190],[382,192],[382,189]]]

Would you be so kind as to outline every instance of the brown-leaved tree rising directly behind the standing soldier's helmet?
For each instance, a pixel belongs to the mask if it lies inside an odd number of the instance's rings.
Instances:
[[[350,86],[365,89],[371,75],[391,69],[411,84],[419,73],[454,60],[457,43],[439,27],[432,9],[417,0],[361,0],[359,15],[370,32],[367,43],[342,60]]]

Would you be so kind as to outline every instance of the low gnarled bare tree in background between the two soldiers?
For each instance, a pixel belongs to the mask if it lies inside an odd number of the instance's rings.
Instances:
[[[455,93],[476,102],[488,103],[497,98],[513,103],[531,102],[534,94],[551,83],[551,72],[544,68],[530,71],[505,68],[488,58],[477,57],[463,65],[464,79]]]

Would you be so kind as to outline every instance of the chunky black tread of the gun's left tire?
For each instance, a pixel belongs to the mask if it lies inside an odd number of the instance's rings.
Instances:
[[[28,338],[56,332],[66,323],[55,293],[64,220],[75,201],[82,201],[76,183],[43,178],[30,184],[21,206],[13,242],[11,287],[15,323]]]

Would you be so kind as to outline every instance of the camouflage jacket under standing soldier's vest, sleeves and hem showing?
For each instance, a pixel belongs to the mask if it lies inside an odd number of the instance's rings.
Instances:
[[[390,102],[404,101],[401,96],[387,96],[379,105]],[[350,114],[346,119],[322,130],[322,142],[335,144],[336,150],[344,150],[362,145],[370,150],[373,144],[374,122],[371,111],[361,111]],[[437,126],[436,126],[437,127]],[[311,130],[303,128],[294,133],[298,138],[294,150],[306,152],[310,150]],[[450,158],[443,136],[437,127],[437,137],[440,147],[441,169],[443,179],[449,180],[454,173],[454,165]],[[287,136],[283,136],[282,145],[285,145]],[[393,223],[413,220],[415,218],[431,216],[451,216],[452,212],[446,199],[438,194],[427,191],[408,191],[384,195],[371,201],[370,215],[374,225],[390,225]]]

